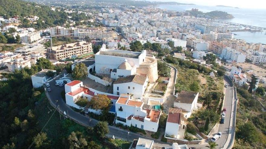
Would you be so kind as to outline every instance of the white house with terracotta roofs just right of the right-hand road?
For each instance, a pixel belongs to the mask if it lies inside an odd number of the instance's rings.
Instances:
[[[247,76],[245,73],[241,73],[241,69],[238,69],[237,67],[232,67],[230,72],[230,77],[233,79],[233,82],[239,86],[244,85],[247,83]]]

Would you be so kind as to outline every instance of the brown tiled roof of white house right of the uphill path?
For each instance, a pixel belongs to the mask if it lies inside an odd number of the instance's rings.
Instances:
[[[182,91],[177,96],[177,99],[175,100],[175,102],[192,104],[192,102],[194,101],[194,98],[196,97],[197,94],[198,94],[197,92]]]

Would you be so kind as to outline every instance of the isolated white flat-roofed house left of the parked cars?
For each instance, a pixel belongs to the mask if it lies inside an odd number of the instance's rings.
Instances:
[[[56,73],[55,70],[44,69],[44,70],[41,70],[40,72],[35,73],[34,75],[31,76],[33,88],[42,87],[46,83],[46,81],[49,81],[51,79],[50,77],[46,76],[46,73],[48,71],[52,71],[52,72]]]

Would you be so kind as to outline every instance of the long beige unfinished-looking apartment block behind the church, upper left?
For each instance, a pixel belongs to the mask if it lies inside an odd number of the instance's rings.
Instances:
[[[81,41],[65,45],[58,45],[48,50],[50,59],[62,60],[66,58],[74,58],[79,55],[92,53],[92,44],[90,42]]]

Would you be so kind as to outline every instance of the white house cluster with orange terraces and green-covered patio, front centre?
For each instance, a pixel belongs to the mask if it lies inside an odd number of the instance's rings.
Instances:
[[[159,106],[160,101],[148,101],[148,104],[144,104],[139,99],[133,99],[125,94],[120,95],[115,103],[117,115],[115,123],[157,132],[161,110],[154,108],[155,105]]]

